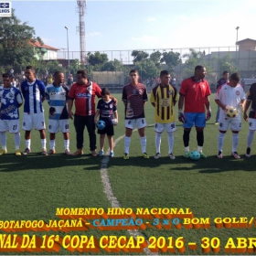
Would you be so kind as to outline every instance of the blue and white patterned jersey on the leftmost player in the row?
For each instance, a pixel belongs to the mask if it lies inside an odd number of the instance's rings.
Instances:
[[[19,119],[18,104],[22,103],[22,96],[16,87],[5,89],[0,87],[0,117],[2,120],[16,120]]]

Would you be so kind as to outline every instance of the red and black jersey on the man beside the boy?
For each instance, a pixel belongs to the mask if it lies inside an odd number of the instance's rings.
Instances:
[[[97,83],[74,83],[69,91],[69,99],[75,100],[75,113],[82,116],[95,114],[95,95],[101,98],[101,88]]]

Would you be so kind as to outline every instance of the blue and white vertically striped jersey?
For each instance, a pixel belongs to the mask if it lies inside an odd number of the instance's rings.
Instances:
[[[41,80],[33,82],[23,81],[21,91],[24,97],[24,112],[43,112],[42,98],[46,97],[45,84]]]

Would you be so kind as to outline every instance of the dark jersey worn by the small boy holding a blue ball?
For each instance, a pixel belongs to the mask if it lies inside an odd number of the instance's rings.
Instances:
[[[116,105],[112,100],[109,102],[100,100],[97,110],[100,111],[100,120],[104,121],[106,125],[112,124],[113,112],[116,112]]]

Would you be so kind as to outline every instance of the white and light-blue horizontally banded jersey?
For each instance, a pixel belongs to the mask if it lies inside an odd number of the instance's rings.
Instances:
[[[60,84],[60,86],[48,84],[46,87],[46,100],[50,107],[48,113],[49,119],[69,119],[66,106],[66,102],[69,100],[68,94],[69,88],[65,84]]]

